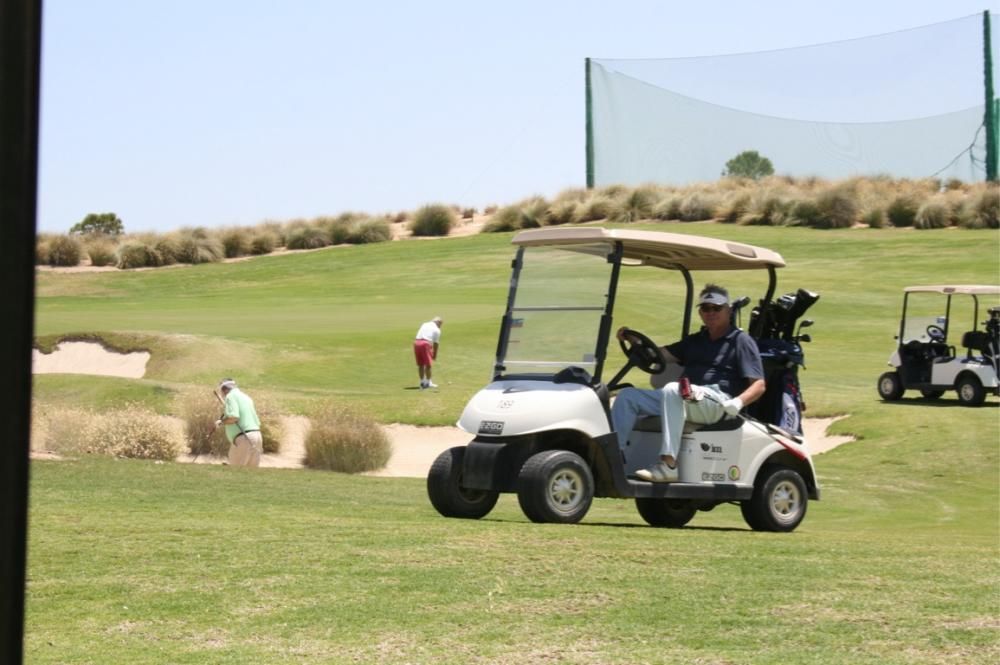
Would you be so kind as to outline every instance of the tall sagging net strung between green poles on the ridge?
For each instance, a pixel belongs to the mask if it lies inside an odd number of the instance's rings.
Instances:
[[[983,180],[985,61],[981,14],[777,51],[591,60],[588,180],[710,181],[747,150],[778,174]]]

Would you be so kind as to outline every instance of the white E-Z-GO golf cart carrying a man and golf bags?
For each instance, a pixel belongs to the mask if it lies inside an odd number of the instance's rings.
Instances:
[[[438,512],[478,519],[501,492],[515,492],[534,522],[578,522],[598,496],[634,498],[653,526],[681,527],[698,510],[738,503],[755,530],[795,529],[808,500],[820,494],[809,446],[798,431],[804,407],[795,378],[799,342],[808,338],[800,334],[802,325],[796,331],[796,319],[819,296],[799,290],[772,300],[775,271],[785,265],[781,256],[711,238],[594,227],[522,231],[512,242],[517,250],[493,380],[458,421],[475,438],[441,453],[427,477]],[[602,380],[620,273],[653,277],[640,267],[676,271],[683,279],[672,287],[684,302],[678,336],[691,327],[692,271],[766,271],[766,293],[748,330],[762,348],[768,395],[751,405],[760,408],[756,417],[688,423],[674,483],[633,475],[658,460],[661,419],[640,419],[622,449],[610,406],[611,394],[629,385],[622,379],[633,368],[655,375],[660,385],[679,376],[680,368],[666,362],[647,336],[630,331],[620,342],[624,365]],[[645,291],[642,296],[640,311],[648,312]],[[734,310],[746,304],[749,298],[740,299]],[[790,411],[796,412],[791,420]]]

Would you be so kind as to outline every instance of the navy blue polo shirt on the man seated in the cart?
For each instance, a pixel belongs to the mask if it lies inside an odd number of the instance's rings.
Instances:
[[[682,365],[691,383],[700,386],[718,384],[731,396],[746,389],[748,380],[764,378],[757,343],[739,328],[730,328],[719,339],[712,340],[702,329],[679,342],[667,346]]]

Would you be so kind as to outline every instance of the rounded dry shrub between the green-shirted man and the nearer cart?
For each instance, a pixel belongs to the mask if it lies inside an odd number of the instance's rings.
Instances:
[[[310,416],[305,465],[343,473],[383,468],[392,455],[392,443],[371,418],[332,402],[321,404]]]

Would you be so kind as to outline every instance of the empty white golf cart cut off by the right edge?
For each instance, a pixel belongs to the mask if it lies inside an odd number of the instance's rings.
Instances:
[[[1000,395],[998,295],[1000,287],[978,284],[903,289],[896,350],[889,357],[893,369],[878,379],[878,394],[882,399],[898,400],[907,390],[919,390],[926,399],[937,399],[945,391],[954,390],[959,403],[979,406],[987,393]],[[943,308],[941,296],[944,296]],[[963,296],[956,302],[966,301],[971,312],[963,317],[953,316],[951,306],[955,296]],[[981,302],[984,296],[985,304]],[[983,310],[988,318],[982,322],[983,329],[979,329]],[[963,347],[961,352],[956,351],[953,341],[956,339]]]

